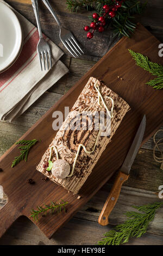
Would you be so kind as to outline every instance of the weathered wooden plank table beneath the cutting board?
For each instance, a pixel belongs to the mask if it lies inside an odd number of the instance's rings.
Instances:
[[[8,0],[7,2],[36,25],[30,0]],[[75,59],[67,53],[59,40],[59,30],[53,17],[41,4],[42,31],[65,51],[66,54],[62,57],[62,62],[70,69],[70,74],[61,78],[57,84],[43,94],[21,117],[12,121],[12,123],[1,121],[1,155],[115,44],[115,41],[112,41],[112,34],[110,32],[104,32],[103,35],[96,34],[95,38],[87,41],[83,32],[83,26],[89,23],[87,13],[85,11],[77,14],[70,13],[66,9],[65,1],[51,0],[51,2],[62,23],[65,23],[71,29],[83,45],[86,55],[80,59]],[[148,0],[148,8],[139,21],[161,42],[163,41],[162,19],[162,0]],[[163,171],[160,169],[160,163],[156,163],[153,160],[153,145],[153,138],[151,138],[139,150],[131,168],[130,178],[122,187],[120,198],[110,215],[110,225],[101,227],[97,220],[116,175],[105,184],[96,196],[65,227],[58,230],[51,240],[48,240],[27,218],[20,217],[1,238],[0,245],[94,245],[97,241],[101,240],[106,231],[126,219],[123,213],[131,210],[131,205],[147,204],[159,200],[158,187],[163,185]],[[0,198],[0,208],[5,204],[6,200],[7,196]],[[132,239],[128,244],[163,245],[162,214],[163,209],[160,209],[153,223],[149,226],[147,234],[143,235],[140,239]]]

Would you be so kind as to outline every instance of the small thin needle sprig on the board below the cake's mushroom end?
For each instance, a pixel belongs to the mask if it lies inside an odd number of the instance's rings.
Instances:
[[[61,199],[61,202],[51,202],[50,205],[44,205],[45,207],[43,208],[42,206],[37,206],[37,210],[32,209],[30,211],[31,215],[30,217],[33,218],[33,221],[39,221],[39,215],[47,215],[47,212],[49,211],[50,214],[54,214],[54,212],[60,213],[61,210],[66,211],[65,205],[68,204],[68,202],[65,202],[64,200]]]

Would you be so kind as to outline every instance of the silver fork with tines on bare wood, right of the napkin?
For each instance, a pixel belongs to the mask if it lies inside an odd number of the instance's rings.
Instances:
[[[42,0],[42,2],[46,5],[48,10],[53,15],[55,21],[57,22],[59,28],[60,28],[60,40],[62,41],[62,44],[67,48],[67,50],[72,54],[74,58],[79,57],[79,55],[82,55],[83,50],[80,48],[77,40],[74,38],[71,31],[68,29],[62,27],[60,20],[58,19],[55,11],[53,10],[51,4],[48,2],[48,0]],[[79,55],[78,55],[79,54]]]

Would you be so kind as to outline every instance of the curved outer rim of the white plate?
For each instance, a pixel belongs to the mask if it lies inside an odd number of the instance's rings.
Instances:
[[[14,13],[14,11],[11,10],[11,8],[9,8],[5,3],[0,2],[0,5],[3,5],[3,8],[5,8],[8,13],[11,15],[12,19],[14,19],[14,23],[16,22],[16,33],[18,36],[18,44],[16,45],[16,51],[14,52],[14,54],[12,54],[12,58],[9,59],[8,64],[5,65],[3,68],[0,69],[0,73],[4,72],[5,70],[7,70],[8,68],[10,68],[10,66],[12,64],[15,63],[15,60],[18,58],[21,50],[22,50],[22,40],[23,40],[23,33],[22,33],[22,28],[20,25],[20,22],[16,16],[16,14]],[[15,26],[15,24],[14,24]]]

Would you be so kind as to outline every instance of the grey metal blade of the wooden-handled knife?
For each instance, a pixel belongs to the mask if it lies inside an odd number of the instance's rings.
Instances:
[[[130,172],[131,166],[134,162],[134,159],[136,157],[136,154],[140,148],[140,145],[142,143],[143,135],[145,133],[146,129],[146,115],[143,116],[143,119],[140,123],[139,129],[136,132],[135,138],[133,143],[131,144],[131,147],[128,151],[128,154],[126,156],[126,159],[124,160],[120,170],[123,173],[126,173],[127,175]]]

